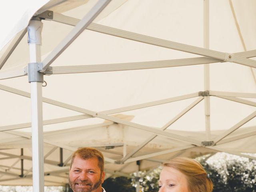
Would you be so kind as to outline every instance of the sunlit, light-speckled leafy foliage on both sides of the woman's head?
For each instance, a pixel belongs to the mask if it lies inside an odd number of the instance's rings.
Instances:
[[[225,153],[212,156],[212,160],[198,158],[214,184],[213,192],[256,192],[256,160],[241,158]],[[158,192],[161,168],[132,179],[133,186],[140,181],[142,192]],[[140,172],[140,175],[146,171]]]

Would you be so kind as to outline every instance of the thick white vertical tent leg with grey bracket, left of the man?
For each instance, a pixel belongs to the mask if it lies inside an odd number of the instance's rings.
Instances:
[[[43,23],[40,19],[30,20],[28,25],[28,44],[30,50],[28,81],[31,87],[33,192],[44,192],[43,74],[39,72],[41,68],[42,26]]]

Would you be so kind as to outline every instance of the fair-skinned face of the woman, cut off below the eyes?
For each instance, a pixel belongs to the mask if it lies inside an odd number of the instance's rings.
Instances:
[[[189,192],[186,176],[172,167],[162,169],[158,184],[158,192]]]

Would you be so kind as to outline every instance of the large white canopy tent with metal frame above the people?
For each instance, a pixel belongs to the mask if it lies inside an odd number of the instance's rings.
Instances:
[[[253,158],[256,2],[108,3],[23,2],[2,26],[0,185],[31,185],[32,157],[34,191],[63,185],[81,146],[103,152],[107,177],[175,156]]]

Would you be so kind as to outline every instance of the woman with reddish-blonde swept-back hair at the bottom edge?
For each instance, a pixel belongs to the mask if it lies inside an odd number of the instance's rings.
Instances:
[[[160,173],[158,192],[212,192],[213,184],[200,163],[190,158],[174,158]]]

